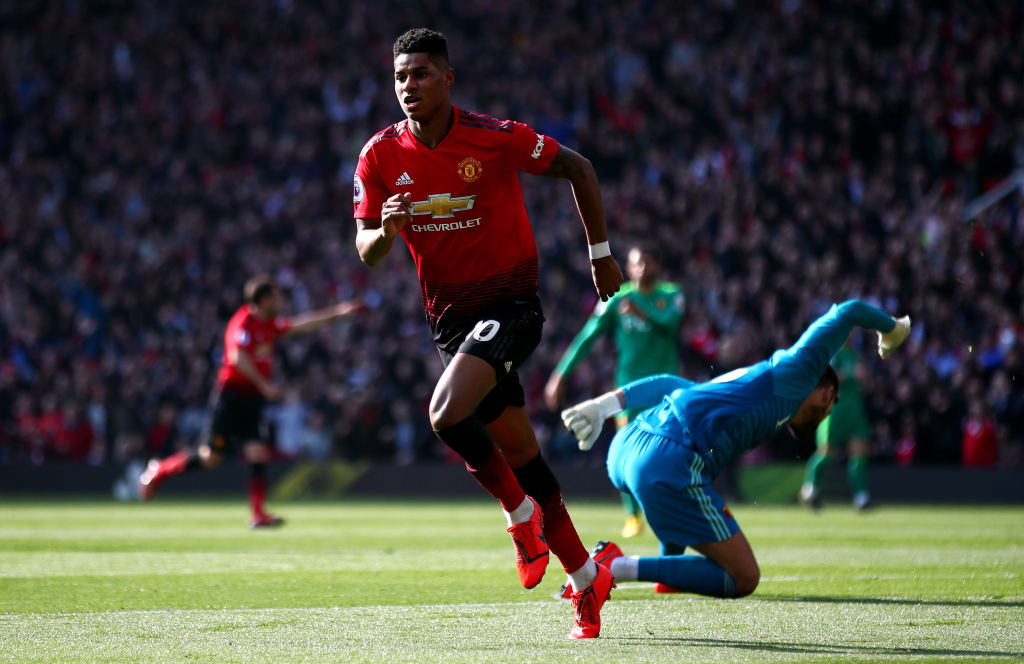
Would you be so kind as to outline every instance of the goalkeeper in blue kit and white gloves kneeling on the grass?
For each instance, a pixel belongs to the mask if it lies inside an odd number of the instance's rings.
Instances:
[[[848,300],[833,305],[792,347],[758,364],[705,383],[651,376],[563,411],[566,427],[589,449],[606,418],[646,409],[615,433],[608,478],[640,502],[662,555],[627,556],[601,542],[595,561],[609,566],[616,581],[653,581],[718,597],[753,592],[761,576],[757,561],[712,481],[782,427],[797,438],[814,435],[840,398],[828,361],[855,327],[877,331],[886,358],[910,334],[910,319]],[[687,547],[700,555],[686,553]]]

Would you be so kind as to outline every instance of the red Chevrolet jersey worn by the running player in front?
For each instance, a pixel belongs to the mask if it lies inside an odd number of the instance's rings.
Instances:
[[[527,125],[453,107],[452,128],[436,148],[408,120],[371,138],[355,167],[355,218],[380,218],[395,194],[413,199],[401,230],[420,277],[431,328],[470,318],[499,297],[537,293],[537,242],[518,171],[540,174],[558,142]]]

